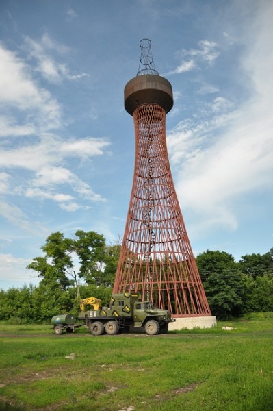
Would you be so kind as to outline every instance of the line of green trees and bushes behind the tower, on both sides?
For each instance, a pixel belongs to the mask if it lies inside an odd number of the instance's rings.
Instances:
[[[79,299],[97,297],[109,303],[120,244],[107,245],[103,235],[78,230],[74,238],[52,233],[27,269],[40,278],[38,286],[0,290],[0,321],[47,322],[55,314],[77,316]],[[200,253],[196,264],[213,315],[218,319],[249,312],[273,311],[273,249],[252,253],[235,262],[224,251]]]

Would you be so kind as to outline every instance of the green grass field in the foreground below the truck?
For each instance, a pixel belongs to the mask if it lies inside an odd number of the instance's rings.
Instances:
[[[273,313],[158,336],[0,323],[0,410],[272,411],[272,338]]]

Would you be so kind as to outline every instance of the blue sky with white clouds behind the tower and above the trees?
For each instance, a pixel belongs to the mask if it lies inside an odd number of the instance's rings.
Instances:
[[[123,106],[142,38],[172,84],[172,176],[194,254],[273,247],[270,0],[1,0],[0,288],[49,234],[122,237],[134,164]]]

